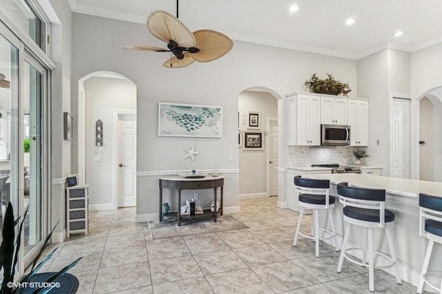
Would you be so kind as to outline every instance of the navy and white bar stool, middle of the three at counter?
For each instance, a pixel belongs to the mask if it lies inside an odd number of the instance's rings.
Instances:
[[[376,266],[376,268],[390,268],[394,266],[396,270],[396,282],[402,284],[399,275],[399,267],[396,262],[396,254],[394,253],[393,239],[390,227],[394,226],[394,213],[385,209],[385,190],[367,189],[349,187],[347,183],[338,184],[339,202],[343,204],[343,215],[346,224],[343,247],[340,251],[338,262],[338,273],[340,273],[344,257],[350,262],[367,266],[369,291],[374,291],[374,254],[381,255],[390,259],[391,263],[384,266]],[[363,227],[363,247],[347,248],[348,237],[352,225]],[[385,229],[387,235],[388,247],[390,248],[390,256],[373,250],[373,229]],[[368,231],[368,252],[365,244],[365,232]],[[347,251],[362,250],[362,262],[349,257]],[[366,263],[366,254],[368,253],[368,264]]]

